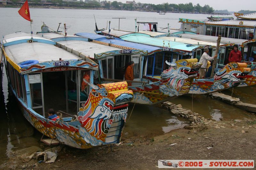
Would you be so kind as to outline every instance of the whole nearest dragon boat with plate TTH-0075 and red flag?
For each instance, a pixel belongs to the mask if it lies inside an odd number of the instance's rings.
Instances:
[[[133,97],[126,82],[94,85],[98,64],[44,37],[9,34],[1,48],[10,90],[43,142],[81,149],[119,143]],[[53,121],[50,108],[65,112]]]

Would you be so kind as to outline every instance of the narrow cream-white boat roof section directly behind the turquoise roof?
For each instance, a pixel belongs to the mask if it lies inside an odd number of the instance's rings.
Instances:
[[[159,37],[159,39],[164,39],[164,40],[169,40],[169,41],[177,41],[177,42],[182,42],[184,44],[217,46],[217,42],[201,41],[201,40],[195,40],[195,39],[190,39],[190,38]],[[224,45],[224,44],[220,43],[220,45]]]

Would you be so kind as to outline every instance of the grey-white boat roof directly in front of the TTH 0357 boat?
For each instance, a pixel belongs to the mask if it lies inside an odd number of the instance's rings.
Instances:
[[[217,42],[217,40],[218,40],[218,37],[216,37],[216,36],[210,36],[210,35],[187,34],[187,33],[182,33],[182,34],[178,34],[178,35],[181,35],[182,38],[190,38],[190,39],[201,40],[201,41]],[[222,44],[235,43],[235,44],[240,44],[240,45],[242,45],[243,42],[245,42],[245,41],[248,41],[248,40],[221,37],[220,43],[222,43]]]

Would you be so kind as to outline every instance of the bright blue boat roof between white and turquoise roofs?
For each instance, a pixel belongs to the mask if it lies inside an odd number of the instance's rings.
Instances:
[[[119,38],[115,39],[107,39],[106,36],[103,35],[97,35],[93,33],[76,33],[76,35],[83,36],[85,38],[94,40],[94,41],[100,41],[105,44],[111,44],[119,47],[119,48],[124,48],[124,49],[139,49],[143,51],[148,51],[148,55],[153,54],[155,52],[162,51],[162,48],[159,47],[154,47],[154,46],[149,46],[145,44],[139,44],[139,43],[134,43],[134,42],[127,42]]]

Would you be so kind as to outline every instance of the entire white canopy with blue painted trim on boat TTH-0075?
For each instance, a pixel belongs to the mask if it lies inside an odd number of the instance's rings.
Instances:
[[[68,61],[68,66],[72,67],[80,67],[77,64],[84,63],[82,68],[98,70],[98,65],[92,60],[84,61],[83,58],[55,46],[56,42],[52,40],[38,35],[33,35],[31,39],[30,35],[29,33],[14,33],[4,36],[3,39],[7,61],[22,74],[55,67],[54,61]],[[21,68],[21,63],[24,68]],[[31,66],[30,68],[25,67],[28,63],[27,67]],[[33,67],[33,65],[37,66]]]

